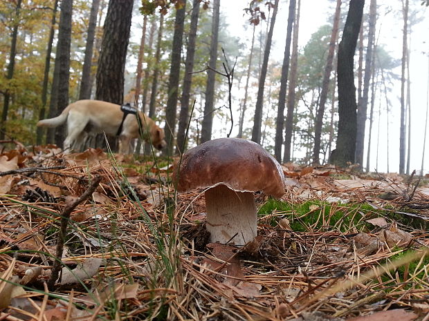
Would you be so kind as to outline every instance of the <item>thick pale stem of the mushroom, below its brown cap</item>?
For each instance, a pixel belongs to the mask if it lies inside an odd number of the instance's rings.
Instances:
[[[257,235],[257,211],[253,193],[236,192],[226,185],[206,191],[207,230],[210,241],[244,245]]]

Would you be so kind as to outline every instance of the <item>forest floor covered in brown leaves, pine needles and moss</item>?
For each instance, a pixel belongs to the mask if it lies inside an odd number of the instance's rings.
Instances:
[[[0,320],[429,320],[427,177],[288,164],[237,247],[208,243],[204,193],[175,193],[173,166],[3,150]]]

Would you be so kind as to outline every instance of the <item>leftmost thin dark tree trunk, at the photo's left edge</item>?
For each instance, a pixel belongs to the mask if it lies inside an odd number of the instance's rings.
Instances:
[[[13,72],[15,71],[15,57],[17,55],[17,38],[18,38],[18,27],[19,27],[19,12],[21,11],[22,0],[18,0],[15,6],[15,21],[12,28],[12,37],[10,40],[10,55],[8,64],[8,87],[10,86],[10,80],[13,78]],[[1,113],[1,126],[0,126],[0,139],[4,139],[6,134],[6,120],[8,119],[9,103],[10,103],[10,92],[9,89],[3,94],[3,113]]]

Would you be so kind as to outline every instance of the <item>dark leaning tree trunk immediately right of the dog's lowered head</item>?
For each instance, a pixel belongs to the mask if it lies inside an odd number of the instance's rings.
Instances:
[[[167,108],[165,109],[164,128],[165,141],[167,142],[167,148],[165,148],[164,154],[169,156],[173,155],[174,132],[176,130],[177,97],[179,97],[179,78],[183,43],[183,25],[185,23],[185,8],[186,1],[183,1],[183,6],[176,9],[176,21],[174,22],[172,64],[170,68],[170,78],[168,81],[168,98]]]

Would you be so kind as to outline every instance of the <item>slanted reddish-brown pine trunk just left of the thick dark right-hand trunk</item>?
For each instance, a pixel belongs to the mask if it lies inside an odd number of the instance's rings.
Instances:
[[[334,23],[332,24],[331,40],[329,41],[328,57],[323,74],[322,92],[320,93],[319,107],[316,115],[314,126],[314,148],[313,148],[313,164],[320,162],[320,140],[322,136],[323,115],[325,114],[325,103],[329,91],[329,78],[331,77],[332,64],[334,61],[335,45],[338,37],[338,25],[340,22],[341,0],[337,0]]]

